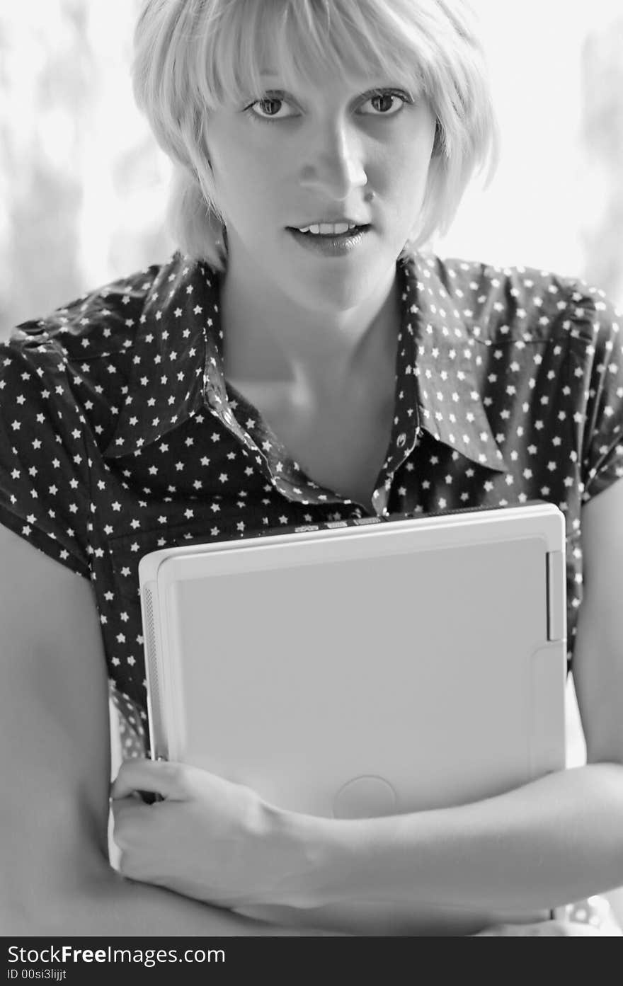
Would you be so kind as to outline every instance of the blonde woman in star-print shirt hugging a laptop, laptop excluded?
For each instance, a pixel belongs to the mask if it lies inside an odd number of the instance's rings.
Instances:
[[[3,347],[7,932],[311,934],[362,896],[503,913],[623,883],[619,328],[585,285],[416,252],[495,154],[464,4],[150,0],[135,89],[183,253]],[[332,823],[136,758],[142,554],[533,498],[567,519],[586,767]],[[130,880],[106,856],[106,668]]]

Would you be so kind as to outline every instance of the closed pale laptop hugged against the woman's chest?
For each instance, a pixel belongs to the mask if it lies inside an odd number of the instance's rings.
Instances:
[[[153,757],[336,818],[465,804],[565,767],[561,512],[375,522],[141,559]],[[432,920],[365,902],[324,911],[360,934]]]

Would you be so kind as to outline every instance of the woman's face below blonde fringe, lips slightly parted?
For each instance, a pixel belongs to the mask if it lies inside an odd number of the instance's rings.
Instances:
[[[229,264],[306,308],[354,307],[386,282],[413,230],[435,116],[386,78],[329,75],[296,91],[272,72],[262,82],[260,101],[219,109],[206,128]],[[370,224],[354,248],[327,253],[292,232],[338,217]]]

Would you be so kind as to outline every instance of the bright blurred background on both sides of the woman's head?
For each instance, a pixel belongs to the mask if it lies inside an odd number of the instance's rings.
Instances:
[[[623,5],[472,0],[502,126],[443,255],[581,275],[623,302]],[[0,8],[0,338],[173,244],[169,166],[136,110],[138,0]]]

